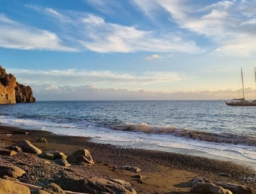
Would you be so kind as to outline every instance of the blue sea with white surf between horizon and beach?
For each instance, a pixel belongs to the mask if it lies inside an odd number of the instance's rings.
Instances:
[[[38,101],[1,105],[0,123],[256,167],[256,107],[222,100]]]

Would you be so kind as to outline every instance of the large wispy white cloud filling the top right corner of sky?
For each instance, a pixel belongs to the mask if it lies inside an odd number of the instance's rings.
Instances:
[[[223,52],[214,53],[242,57],[256,55],[255,0],[218,1],[207,6],[191,4],[187,0],[154,0],[154,3],[169,12],[171,21],[177,23],[179,28],[204,35],[217,45],[216,51]],[[154,15],[150,6],[141,3],[137,5],[147,15],[149,12]]]

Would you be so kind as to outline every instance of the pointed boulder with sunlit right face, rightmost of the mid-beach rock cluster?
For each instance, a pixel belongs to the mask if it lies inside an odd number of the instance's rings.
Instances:
[[[94,164],[93,157],[90,155],[90,152],[86,149],[77,150],[73,152],[71,155],[67,157],[67,161],[74,164]]]

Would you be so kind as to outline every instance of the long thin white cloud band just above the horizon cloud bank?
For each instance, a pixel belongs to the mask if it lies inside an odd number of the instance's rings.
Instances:
[[[118,73],[113,71],[83,71],[77,69],[65,70],[29,70],[8,69],[18,82],[26,85],[150,85],[152,83],[175,82],[184,79],[175,72],[147,71],[145,73]]]

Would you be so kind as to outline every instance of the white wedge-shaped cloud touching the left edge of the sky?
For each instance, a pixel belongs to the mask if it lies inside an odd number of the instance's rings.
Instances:
[[[5,15],[0,15],[0,46],[23,50],[76,51],[63,46],[55,33],[25,26]]]

